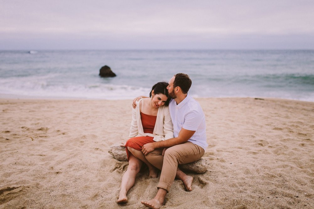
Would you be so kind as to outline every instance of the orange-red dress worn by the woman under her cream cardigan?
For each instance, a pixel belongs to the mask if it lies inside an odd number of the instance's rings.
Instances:
[[[141,121],[143,125],[143,131],[144,133],[150,133],[152,134],[154,131],[155,123],[156,123],[157,116],[154,115],[146,115],[144,113],[141,113]],[[127,159],[129,159],[129,150],[127,147],[132,147],[137,150],[142,150],[142,146],[144,144],[154,142],[154,137],[133,137],[127,140],[127,143],[125,144],[125,149],[127,151]]]

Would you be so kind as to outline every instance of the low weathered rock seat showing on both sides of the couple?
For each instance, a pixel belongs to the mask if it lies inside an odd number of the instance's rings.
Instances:
[[[116,160],[127,161],[127,153],[125,147],[121,147],[118,144],[111,145],[109,147],[108,153],[114,156]],[[201,158],[193,163],[181,164],[179,168],[182,171],[187,171],[191,173],[203,174],[206,172],[206,160]]]

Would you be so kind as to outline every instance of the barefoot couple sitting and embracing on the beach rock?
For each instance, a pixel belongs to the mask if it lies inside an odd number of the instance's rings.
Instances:
[[[127,192],[143,163],[147,164],[150,177],[157,177],[161,170],[156,196],[141,201],[143,205],[160,208],[175,178],[192,191],[193,177],[183,173],[178,164],[200,159],[208,144],[203,110],[187,95],[191,84],[187,74],[178,73],[169,83],[156,83],[149,98],[134,99],[129,135],[133,138],[123,145],[129,166],[122,177],[118,203],[127,202]]]

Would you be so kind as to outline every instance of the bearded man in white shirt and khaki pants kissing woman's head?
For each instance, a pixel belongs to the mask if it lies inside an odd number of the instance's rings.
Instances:
[[[161,170],[156,196],[152,200],[141,201],[147,207],[160,208],[163,205],[175,177],[183,181],[187,191],[192,191],[193,177],[178,169],[178,164],[200,159],[208,144],[203,110],[197,101],[187,95],[191,85],[191,79],[184,73],[178,73],[170,79],[167,89],[172,98],[169,111],[174,138],[142,147],[146,159]]]

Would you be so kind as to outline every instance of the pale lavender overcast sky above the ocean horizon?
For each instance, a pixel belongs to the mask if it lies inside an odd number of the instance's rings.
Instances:
[[[5,49],[314,49],[314,0],[0,0]]]

